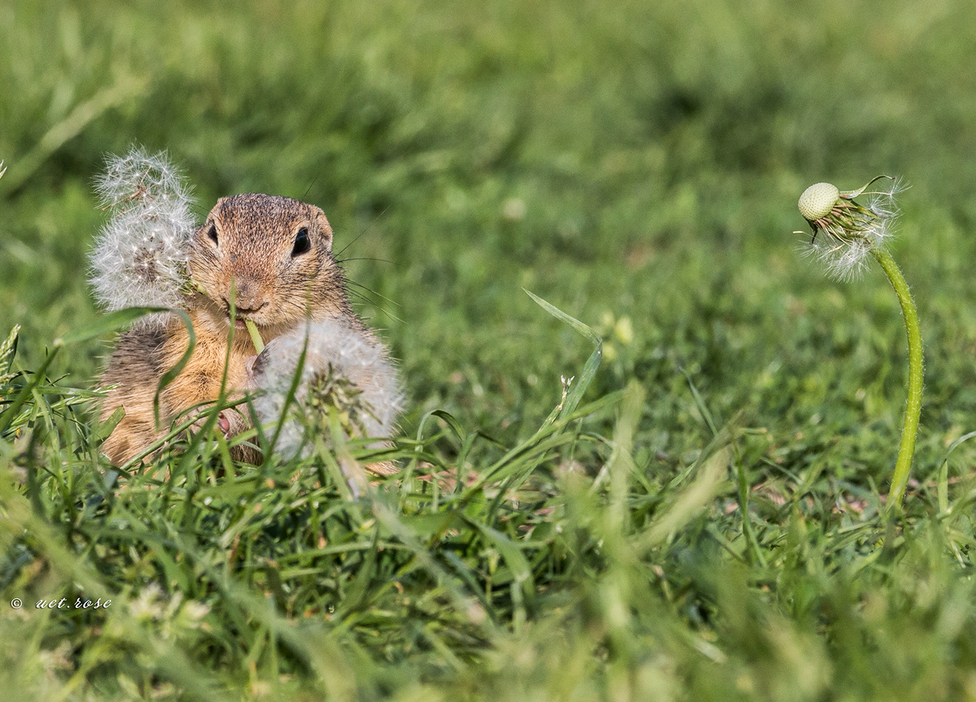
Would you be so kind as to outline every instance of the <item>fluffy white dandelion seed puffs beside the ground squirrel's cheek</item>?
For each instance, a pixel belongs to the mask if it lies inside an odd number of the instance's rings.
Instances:
[[[108,156],[96,180],[111,216],[91,254],[91,283],[105,310],[180,307],[196,223],[193,200],[165,152],[134,147]]]

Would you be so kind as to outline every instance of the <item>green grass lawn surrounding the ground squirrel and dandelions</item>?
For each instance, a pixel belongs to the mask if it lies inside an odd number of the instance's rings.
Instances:
[[[964,0],[0,2],[0,696],[976,698],[974,47]],[[134,144],[201,218],[327,213],[398,475],[112,471],[86,267]],[[879,174],[925,343],[891,518],[898,301],[796,210]]]

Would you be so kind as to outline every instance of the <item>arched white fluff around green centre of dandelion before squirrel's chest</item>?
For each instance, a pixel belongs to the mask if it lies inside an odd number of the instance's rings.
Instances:
[[[255,385],[264,390],[255,398],[254,408],[265,433],[273,433],[281,419],[306,338],[305,365],[290,414],[309,411],[305,403],[308,385],[316,376],[328,373],[331,366],[335,375],[362,392],[359,399],[369,410],[362,418],[367,434],[377,438],[392,434],[404,404],[396,368],[380,341],[343,318],[309,322],[268,342],[255,363],[253,376]],[[303,455],[310,452],[310,446],[303,450],[305,426],[311,418],[305,415],[305,419],[302,422],[290,416],[285,420],[275,447],[279,454],[290,458],[299,451]]]

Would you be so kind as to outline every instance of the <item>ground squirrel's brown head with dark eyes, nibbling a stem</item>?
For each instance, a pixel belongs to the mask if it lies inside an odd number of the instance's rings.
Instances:
[[[193,235],[189,272],[209,298],[200,306],[224,329],[231,299],[237,325],[250,319],[265,338],[347,310],[325,213],[290,197],[222,197]]]

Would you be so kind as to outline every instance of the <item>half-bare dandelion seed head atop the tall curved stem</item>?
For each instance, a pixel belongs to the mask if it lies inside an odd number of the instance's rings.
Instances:
[[[865,193],[882,178],[890,181],[887,188]],[[872,252],[883,251],[893,237],[899,214],[895,196],[903,189],[901,181],[889,176],[878,176],[857,190],[841,191],[830,183],[809,186],[797,204],[813,229],[813,238],[803,253],[819,259],[827,274],[837,280],[859,277],[868,267]],[[862,194],[871,196],[867,205],[854,199]],[[818,240],[821,231],[824,235]]]

